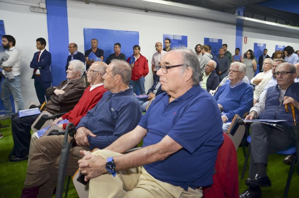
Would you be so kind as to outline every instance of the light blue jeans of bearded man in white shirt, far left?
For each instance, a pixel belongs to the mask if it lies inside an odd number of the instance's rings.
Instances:
[[[21,77],[15,76],[14,79],[9,80],[4,78],[1,84],[1,99],[5,107],[5,115],[13,115],[13,108],[10,103],[10,94],[13,95],[13,99],[18,104],[18,110],[24,109],[24,100],[21,93]]]

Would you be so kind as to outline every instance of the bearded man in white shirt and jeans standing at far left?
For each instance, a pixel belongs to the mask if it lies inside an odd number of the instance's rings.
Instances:
[[[5,107],[5,115],[0,120],[4,120],[13,115],[13,108],[9,99],[10,94],[13,95],[13,99],[18,104],[18,110],[24,109],[24,100],[21,93],[21,73],[19,71],[21,54],[15,47],[16,39],[10,35],[3,35],[1,44],[4,49],[7,49],[5,53],[9,56],[7,61],[1,64],[2,74],[4,75],[1,84],[1,99]]]

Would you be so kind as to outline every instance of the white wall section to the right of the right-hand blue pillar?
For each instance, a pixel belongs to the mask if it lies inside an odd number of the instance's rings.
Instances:
[[[295,51],[299,50],[299,39],[292,38],[294,35],[287,33],[278,32],[268,32],[260,29],[246,28],[243,29],[243,39],[247,36],[247,44],[242,45],[243,54],[254,48],[254,43],[266,43],[266,48],[268,49],[268,55],[271,57],[275,52],[275,45],[285,45],[292,46]],[[259,57],[256,57],[257,60]]]

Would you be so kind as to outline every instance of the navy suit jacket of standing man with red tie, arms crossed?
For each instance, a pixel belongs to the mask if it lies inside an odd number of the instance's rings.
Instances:
[[[52,81],[52,74],[50,70],[51,65],[51,53],[45,50],[39,57],[39,62],[37,62],[38,52],[35,52],[33,59],[30,63],[30,67],[33,69],[39,69],[40,75],[44,82]],[[34,78],[35,74],[33,73],[31,78]]]

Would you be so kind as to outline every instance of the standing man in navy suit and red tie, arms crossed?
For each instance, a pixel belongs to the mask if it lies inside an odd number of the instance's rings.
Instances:
[[[51,87],[52,75],[50,70],[51,53],[45,49],[46,40],[44,38],[36,39],[36,49],[39,51],[34,53],[30,67],[33,68],[32,78],[34,79],[34,87],[39,103],[45,102],[49,98],[46,96],[46,89]]]

